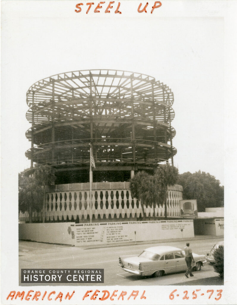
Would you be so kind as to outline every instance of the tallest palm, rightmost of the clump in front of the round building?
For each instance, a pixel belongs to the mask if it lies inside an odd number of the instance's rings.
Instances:
[[[157,167],[154,174],[156,191],[158,191],[158,201],[165,202],[165,218],[167,218],[167,189],[170,185],[175,185],[178,180],[179,171],[176,167],[169,165],[161,165]]]

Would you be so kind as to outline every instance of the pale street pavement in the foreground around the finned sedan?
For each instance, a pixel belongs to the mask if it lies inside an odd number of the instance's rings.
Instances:
[[[168,274],[159,278],[152,276],[141,278],[139,276],[125,272],[118,266],[118,256],[132,257],[140,254],[144,249],[151,246],[174,246],[183,249],[187,239],[172,239],[165,241],[139,242],[130,244],[120,244],[116,246],[87,246],[73,247],[65,245],[54,245],[39,242],[19,241],[19,285],[21,268],[103,268],[104,283],[83,285],[173,285],[185,284],[192,285],[192,280],[213,278],[218,276],[214,272],[213,265],[207,263],[201,271],[193,272],[194,277],[186,278],[184,273]],[[188,239],[194,253],[206,254],[209,252],[214,243],[223,240],[223,236],[196,236]],[[203,281],[202,285],[205,285]],[[54,284],[25,284],[24,286],[33,285],[62,285]],[[75,284],[66,284],[78,286]],[[200,284],[201,285],[201,284]],[[209,284],[210,285],[210,284]]]

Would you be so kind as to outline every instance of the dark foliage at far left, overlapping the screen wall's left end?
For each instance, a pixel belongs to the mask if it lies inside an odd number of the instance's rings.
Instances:
[[[37,164],[33,175],[29,169],[18,174],[18,204],[19,211],[28,211],[29,221],[32,222],[32,212],[40,210],[44,204],[44,186],[54,181],[52,168],[48,165]]]

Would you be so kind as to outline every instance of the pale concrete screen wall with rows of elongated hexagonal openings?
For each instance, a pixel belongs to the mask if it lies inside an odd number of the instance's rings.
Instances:
[[[129,182],[92,183],[92,221],[134,220],[141,217],[141,203],[132,198]],[[181,185],[168,187],[167,216],[180,216]],[[155,206],[155,215],[163,217],[164,204]],[[145,208],[147,217],[154,216],[153,208]],[[61,184],[46,187],[44,208],[33,213],[33,221],[88,222],[90,217],[90,184]],[[27,213],[20,213],[20,221],[28,221]]]

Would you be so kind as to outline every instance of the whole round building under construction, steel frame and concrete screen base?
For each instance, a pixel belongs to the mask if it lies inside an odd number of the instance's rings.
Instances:
[[[88,221],[90,144],[96,165],[92,219],[140,217],[141,204],[131,197],[127,181],[139,170],[152,174],[159,163],[173,164],[171,89],[144,74],[83,70],[36,82],[26,101],[31,124],[26,156],[31,167],[34,162],[48,164],[56,175],[35,220]],[[181,188],[169,191],[168,216],[180,214]],[[155,211],[164,215],[162,205]],[[146,214],[152,216],[153,209]]]

